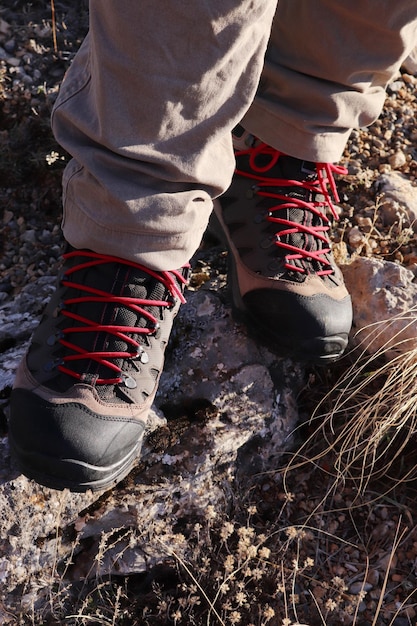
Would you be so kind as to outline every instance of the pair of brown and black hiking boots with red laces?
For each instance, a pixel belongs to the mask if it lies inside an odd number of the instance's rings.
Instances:
[[[352,322],[329,241],[342,168],[289,157],[247,133],[238,141],[235,177],[213,217],[229,250],[234,308],[278,350],[336,359]],[[11,396],[10,445],[24,474],[73,491],[126,476],[189,271],[68,248]]]

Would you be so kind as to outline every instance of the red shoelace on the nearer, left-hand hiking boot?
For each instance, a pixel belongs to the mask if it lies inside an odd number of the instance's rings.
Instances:
[[[135,341],[129,334],[134,335],[151,335],[156,332],[158,328],[158,320],[144,307],[171,307],[173,305],[173,301],[168,300],[147,300],[140,298],[132,298],[126,296],[116,296],[107,291],[101,291],[100,289],[96,289],[89,285],[83,285],[80,282],[77,282],[75,279],[71,279],[72,275],[76,274],[80,270],[84,270],[89,267],[104,265],[106,263],[117,263],[121,265],[126,265],[128,267],[135,268],[142,272],[149,274],[149,276],[155,278],[159,282],[161,282],[168,292],[171,294],[173,300],[178,298],[180,302],[184,303],[185,298],[182,294],[181,287],[179,285],[185,285],[187,283],[187,278],[185,278],[180,271],[173,270],[168,272],[156,272],[147,267],[134,263],[132,261],[127,261],[124,259],[119,259],[118,257],[113,257],[106,254],[99,254],[96,252],[90,252],[85,250],[74,250],[67,254],[63,255],[64,259],[80,257],[87,257],[88,260],[84,262],[80,262],[77,265],[74,265],[70,268],[64,275],[62,280],[62,284],[65,287],[77,289],[78,291],[84,292],[85,296],[79,296],[77,298],[69,298],[64,301],[64,308],[61,311],[61,314],[67,318],[74,320],[75,322],[79,322],[79,325],[72,326],[66,328],[62,331],[63,336],[60,337],[59,342],[62,346],[69,349],[73,354],[69,354],[63,357],[62,362],[58,365],[58,369],[76,378],[78,380],[83,380],[83,374],[79,374],[70,368],[70,363],[74,361],[80,360],[93,360],[96,361],[101,366],[106,366],[110,370],[116,372],[116,375],[113,378],[97,378],[94,380],[95,384],[101,385],[117,385],[123,381],[123,377],[121,375],[121,369],[113,363],[113,359],[128,359],[128,358],[140,358],[142,354],[144,354],[143,348],[141,345]],[[189,267],[189,266],[187,266]],[[114,325],[114,324],[99,324],[94,320],[90,320],[86,317],[82,317],[77,315],[76,313],[71,312],[70,307],[74,304],[86,303],[86,302],[101,302],[103,305],[114,304],[121,307],[127,307],[132,311],[135,311],[140,316],[145,317],[149,323],[150,327],[138,328],[137,326],[124,326],[124,325]],[[97,333],[97,332],[105,332],[107,334],[113,335],[115,338],[120,339],[126,342],[129,346],[132,347],[131,352],[120,352],[120,351],[88,351],[69,340],[69,335],[73,333]]]

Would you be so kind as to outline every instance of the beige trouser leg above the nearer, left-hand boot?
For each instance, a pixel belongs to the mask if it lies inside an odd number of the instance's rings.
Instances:
[[[65,238],[157,270],[198,246],[230,183],[230,131],[262,70],[272,0],[91,0],[52,123],[72,155]]]

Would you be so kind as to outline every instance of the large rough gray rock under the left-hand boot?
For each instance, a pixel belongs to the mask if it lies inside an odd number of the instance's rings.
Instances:
[[[36,324],[27,311],[40,312],[49,288],[33,289],[31,303],[26,291],[0,311],[9,320],[4,337],[15,343],[2,354],[3,387],[11,383]],[[222,294],[213,283],[188,292],[143,455],[113,491],[71,494],[40,487],[14,470],[7,437],[0,440],[0,594],[6,607],[47,602],[58,564],[70,558],[64,582],[98,570],[142,572],[163,561],[172,546],[181,555],[179,519],[208,511],[216,516],[236,475],[244,484],[279,465],[297,423],[303,370],[249,339]]]

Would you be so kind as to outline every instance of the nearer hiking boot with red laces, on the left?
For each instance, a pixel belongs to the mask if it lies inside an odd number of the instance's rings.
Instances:
[[[86,491],[129,472],[187,273],[89,250],[64,254],[11,396],[10,445],[26,476]]]

